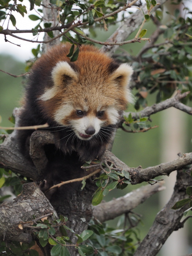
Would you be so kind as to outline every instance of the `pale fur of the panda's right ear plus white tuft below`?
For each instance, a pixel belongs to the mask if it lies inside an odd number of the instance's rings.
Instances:
[[[118,86],[123,87],[125,98],[129,103],[134,103],[134,96],[129,89],[129,82],[133,74],[133,69],[126,63],[121,64],[111,75],[111,79],[118,82]]]

